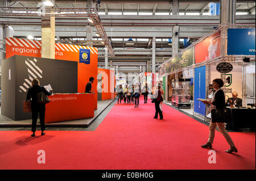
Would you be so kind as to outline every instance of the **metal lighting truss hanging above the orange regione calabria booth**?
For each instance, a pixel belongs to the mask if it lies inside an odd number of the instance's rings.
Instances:
[[[49,2],[45,1],[47,5]],[[112,42],[109,40],[104,27],[101,23],[100,16],[97,9],[94,7],[89,8],[66,8],[66,7],[12,7],[12,6],[0,6],[0,16],[55,16],[55,17],[87,17],[90,23],[93,23],[97,28],[98,35],[102,38],[105,46],[108,48],[109,57],[114,57],[114,50],[112,48]],[[99,57],[104,54],[98,54]]]

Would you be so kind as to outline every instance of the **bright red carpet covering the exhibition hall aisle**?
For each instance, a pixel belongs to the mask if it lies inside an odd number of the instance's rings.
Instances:
[[[148,101],[150,102],[150,101]],[[0,132],[0,169],[254,169],[255,133],[229,133],[238,153],[216,131],[216,163],[208,163],[209,127],[163,105],[155,120],[154,104],[115,104],[96,131]],[[46,151],[39,164],[38,150]]]

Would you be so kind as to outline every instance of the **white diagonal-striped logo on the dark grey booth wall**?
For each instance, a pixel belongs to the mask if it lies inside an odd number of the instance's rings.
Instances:
[[[29,60],[28,58],[25,60],[25,64],[28,66],[28,78],[24,79],[22,86],[19,86],[19,92],[26,92],[28,88],[30,88],[34,78],[43,78],[43,71],[35,64],[37,61],[36,58],[34,58],[34,61]]]

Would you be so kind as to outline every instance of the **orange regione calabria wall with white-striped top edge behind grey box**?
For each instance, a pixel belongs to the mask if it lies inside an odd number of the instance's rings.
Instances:
[[[90,64],[79,63],[79,49],[90,49]],[[6,58],[14,55],[41,57],[41,41],[6,38]],[[84,93],[86,83],[94,77],[94,110],[97,110],[98,48],[55,43],[55,59],[77,61],[77,92]],[[53,88],[54,89],[54,88]]]

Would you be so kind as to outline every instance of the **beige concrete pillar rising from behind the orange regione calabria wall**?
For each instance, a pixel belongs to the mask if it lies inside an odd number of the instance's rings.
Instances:
[[[42,0],[44,2],[45,0]],[[52,1],[53,3],[55,0]],[[46,11],[47,12],[47,11]],[[52,12],[52,11],[49,11]],[[49,13],[48,12],[48,13]],[[42,16],[42,58],[55,58],[55,16]]]

